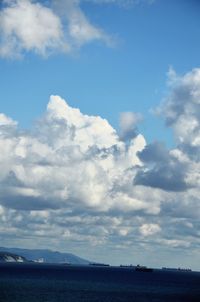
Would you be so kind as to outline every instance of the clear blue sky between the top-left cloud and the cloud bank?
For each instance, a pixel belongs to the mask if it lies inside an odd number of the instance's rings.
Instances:
[[[28,52],[20,60],[1,59],[1,111],[29,127],[49,95],[59,94],[114,127],[120,112],[141,112],[148,141],[162,138],[164,131],[170,144],[171,134],[150,109],[166,93],[170,66],[182,74],[198,64],[198,1],[141,1],[129,7],[88,1],[81,7],[115,45],[92,41],[70,55],[44,59]]]

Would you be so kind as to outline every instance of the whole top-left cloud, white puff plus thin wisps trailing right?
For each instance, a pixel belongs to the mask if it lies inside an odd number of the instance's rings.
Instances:
[[[0,56],[21,57],[25,52],[47,56],[55,51],[71,52],[85,43],[111,38],[92,25],[79,1],[3,1],[0,10]],[[62,11],[62,13],[61,13]]]

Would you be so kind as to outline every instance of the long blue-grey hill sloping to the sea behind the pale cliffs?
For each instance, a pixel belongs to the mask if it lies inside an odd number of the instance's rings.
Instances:
[[[20,255],[22,258],[29,261],[38,261],[44,263],[69,263],[69,264],[89,264],[90,261],[82,259],[71,253],[60,253],[51,250],[41,249],[21,249],[21,248],[6,248],[0,247],[0,253],[6,252],[7,254]],[[1,258],[0,258],[1,259]],[[1,261],[1,260],[0,260]]]

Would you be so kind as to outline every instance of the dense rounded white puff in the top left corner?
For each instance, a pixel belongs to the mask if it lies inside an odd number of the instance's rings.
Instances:
[[[65,47],[62,24],[50,8],[29,0],[13,0],[0,11],[2,57],[17,57],[24,51],[46,55]]]

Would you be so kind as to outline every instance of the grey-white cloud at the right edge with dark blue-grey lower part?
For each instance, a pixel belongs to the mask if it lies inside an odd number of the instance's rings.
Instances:
[[[158,142],[146,146],[138,156],[148,165],[140,169],[135,183],[166,191],[192,192],[199,185],[200,70],[178,76],[170,68],[168,76],[170,93],[158,112],[172,128],[176,147],[167,150]]]

